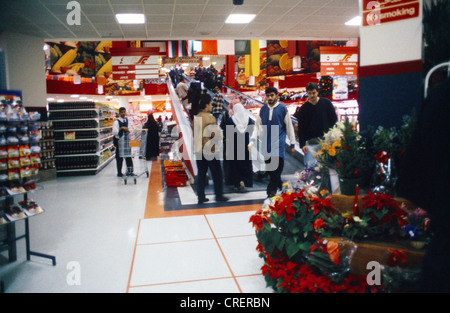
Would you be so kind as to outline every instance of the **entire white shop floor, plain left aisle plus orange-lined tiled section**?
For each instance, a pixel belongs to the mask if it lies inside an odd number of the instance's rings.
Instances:
[[[149,169],[151,162],[148,162]],[[45,213],[30,219],[33,251],[0,253],[7,293],[271,292],[260,273],[253,212],[143,219],[148,179],[124,185],[111,162],[95,176],[59,177],[30,195]],[[17,223],[17,235],[23,223]],[[70,284],[69,264],[80,269]]]

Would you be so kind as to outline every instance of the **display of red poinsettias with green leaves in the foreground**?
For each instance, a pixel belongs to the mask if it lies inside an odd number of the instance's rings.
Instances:
[[[417,290],[424,252],[402,231],[414,209],[405,199],[371,192],[277,195],[249,220],[267,286],[281,293]]]

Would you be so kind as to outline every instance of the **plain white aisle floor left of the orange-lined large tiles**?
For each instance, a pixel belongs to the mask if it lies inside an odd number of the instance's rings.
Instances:
[[[0,254],[5,291],[126,292],[148,178],[124,185],[112,161],[95,176],[58,177],[39,185],[44,190],[29,197],[45,212],[30,218],[31,250],[54,255],[56,266],[35,256],[27,261],[25,240],[19,240],[16,262],[7,262],[6,251]],[[16,234],[23,230],[24,223],[17,222]]]

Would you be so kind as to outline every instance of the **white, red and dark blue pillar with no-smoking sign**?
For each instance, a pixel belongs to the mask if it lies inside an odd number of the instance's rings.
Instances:
[[[422,0],[360,0],[360,13],[360,126],[398,127],[422,99]]]

